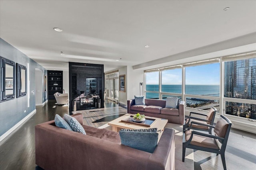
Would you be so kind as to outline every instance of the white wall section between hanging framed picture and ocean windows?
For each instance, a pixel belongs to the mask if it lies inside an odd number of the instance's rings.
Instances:
[[[127,99],[134,99],[134,95],[143,95],[142,86],[144,82],[144,71],[133,70],[132,66],[127,66]],[[141,89],[141,90],[140,90]],[[127,101],[126,101],[127,104]]]

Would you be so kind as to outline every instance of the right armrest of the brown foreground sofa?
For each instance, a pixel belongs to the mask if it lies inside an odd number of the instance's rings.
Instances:
[[[154,153],[149,158],[147,170],[175,169],[175,131],[165,128]]]

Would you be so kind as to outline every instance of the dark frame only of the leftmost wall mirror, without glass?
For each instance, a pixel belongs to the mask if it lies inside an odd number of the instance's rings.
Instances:
[[[5,79],[6,79],[6,64],[13,66],[13,93],[6,95],[6,89],[5,89]],[[5,59],[4,57],[0,56],[0,66],[1,66],[1,74],[0,74],[0,102],[5,102],[8,100],[12,100],[15,98],[15,62]]]

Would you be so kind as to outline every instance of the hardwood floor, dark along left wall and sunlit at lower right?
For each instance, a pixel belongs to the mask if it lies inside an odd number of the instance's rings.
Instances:
[[[118,104],[105,102],[105,107]],[[49,100],[44,106],[36,106],[36,113],[18,127],[0,143],[0,170],[40,170],[35,164],[34,126],[53,120],[55,114],[68,114],[68,106],[58,106],[55,100]],[[237,129],[231,129],[226,148],[227,169],[256,169],[256,135]],[[195,170],[221,170],[222,162],[216,154],[194,151]]]

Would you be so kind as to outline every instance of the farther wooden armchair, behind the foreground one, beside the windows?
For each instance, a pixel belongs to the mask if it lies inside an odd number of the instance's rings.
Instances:
[[[201,119],[197,117],[192,117],[191,115],[203,115],[206,117],[206,119]],[[214,118],[216,114],[216,108],[211,107],[208,114],[202,114],[202,113],[196,113],[196,112],[190,112],[189,117],[185,120],[185,123],[183,125],[183,131],[190,127],[191,121],[198,122],[199,124],[193,124],[191,129],[194,130],[200,130],[200,131],[208,131],[209,134],[212,134],[212,127],[204,126],[204,125],[213,125]],[[203,125],[201,125],[203,124]]]

